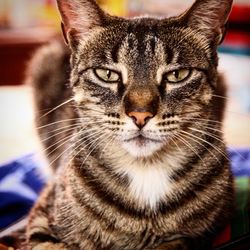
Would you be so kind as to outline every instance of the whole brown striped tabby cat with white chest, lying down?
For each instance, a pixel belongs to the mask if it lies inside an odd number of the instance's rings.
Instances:
[[[68,48],[43,48],[29,78],[56,168],[30,249],[211,248],[233,204],[217,72],[231,5],[127,19],[58,0]]]

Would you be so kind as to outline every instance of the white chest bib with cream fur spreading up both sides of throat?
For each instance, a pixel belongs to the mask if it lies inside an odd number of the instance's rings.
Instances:
[[[112,149],[107,157],[119,175],[128,177],[130,197],[141,207],[151,209],[156,208],[161,200],[175,195],[176,184],[171,176],[185,162],[185,155],[178,150],[168,151],[161,160],[154,162],[136,159],[121,148]]]

